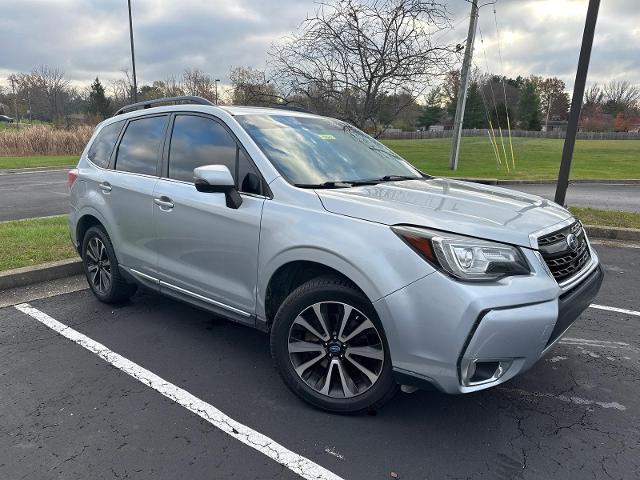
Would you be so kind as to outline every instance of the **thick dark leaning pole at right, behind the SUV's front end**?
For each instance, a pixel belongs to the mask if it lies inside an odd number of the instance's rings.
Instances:
[[[556,196],[554,198],[554,201],[559,205],[564,205],[567,197],[573,148],[576,145],[578,120],[580,119],[580,110],[582,109],[582,98],[584,97],[584,87],[587,82],[587,71],[589,70],[589,59],[591,58],[591,47],[593,46],[593,35],[596,30],[599,8],[600,0],[589,0],[587,19],[584,23],[584,32],[582,34],[582,47],[580,47],[580,57],[578,58],[576,81],[573,85],[573,98],[571,99],[571,110],[569,111],[567,136],[564,139],[564,147],[562,148],[562,162],[560,163]]]

